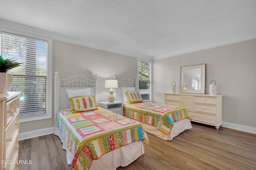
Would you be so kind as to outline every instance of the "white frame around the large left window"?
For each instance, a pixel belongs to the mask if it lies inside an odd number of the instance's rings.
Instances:
[[[51,119],[52,118],[52,38],[41,36],[39,34],[33,33],[25,33],[25,32],[17,32],[14,30],[0,30],[0,33],[8,34],[8,35],[15,35],[20,36],[21,38],[32,38],[38,40],[45,40],[47,41],[47,75],[46,75],[46,113],[39,114],[39,115],[26,115],[20,116],[19,122],[28,122],[28,121],[37,121],[42,119]]]

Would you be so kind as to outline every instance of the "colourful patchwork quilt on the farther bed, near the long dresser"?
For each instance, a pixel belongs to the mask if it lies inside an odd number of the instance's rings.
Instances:
[[[183,107],[161,105],[150,102],[124,103],[124,116],[155,126],[164,134],[169,134],[174,122],[190,119]]]

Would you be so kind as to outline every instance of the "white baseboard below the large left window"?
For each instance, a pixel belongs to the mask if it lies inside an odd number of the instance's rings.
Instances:
[[[50,128],[43,128],[43,129],[39,129],[39,130],[33,130],[33,131],[29,131],[29,132],[19,133],[19,140],[34,138],[34,137],[43,136],[46,134],[52,134],[52,133],[54,133],[54,130],[55,130],[54,127],[50,127]]]

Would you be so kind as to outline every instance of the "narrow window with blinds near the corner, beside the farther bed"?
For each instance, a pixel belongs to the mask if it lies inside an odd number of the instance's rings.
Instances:
[[[139,92],[143,101],[151,100],[151,62],[138,61]]]

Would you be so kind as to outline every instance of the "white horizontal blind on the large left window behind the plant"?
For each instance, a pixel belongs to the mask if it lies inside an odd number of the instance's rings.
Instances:
[[[22,63],[8,71],[13,75],[10,91],[20,91],[20,117],[46,114],[46,40],[1,32],[0,51],[4,59]]]

